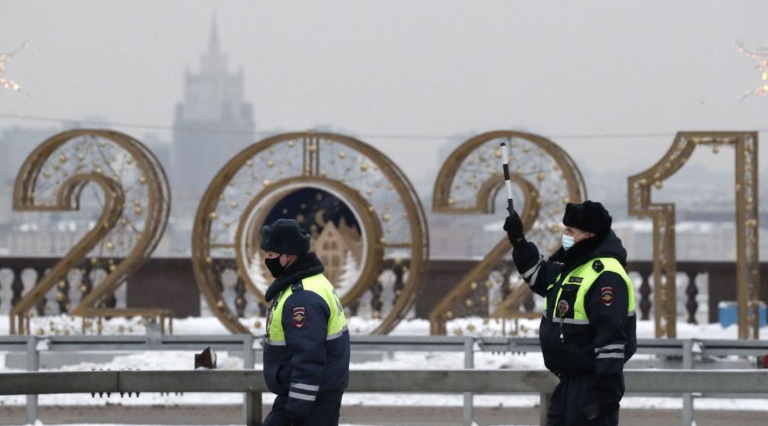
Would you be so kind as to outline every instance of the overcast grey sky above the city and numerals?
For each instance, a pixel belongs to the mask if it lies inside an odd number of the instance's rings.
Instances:
[[[768,44],[765,1],[4,0],[0,51],[28,45],[7,64],[23,91],[0,90],[0,115],[170,126],[214,11],[257,131],[333,126],[417,181],[431,182],[453,145],[379,136],[525,129],[582,169],[631,175],[677,130],[768,129],[768,97],[740,101],[761,81],[733,44]],[[0,117],[0,129],[12,125],[51,123]],[[571,137],[648,133],[657,136]],[[696,157],[727,170],[732,158]],[[762,149],[761,170],[765,159]]]

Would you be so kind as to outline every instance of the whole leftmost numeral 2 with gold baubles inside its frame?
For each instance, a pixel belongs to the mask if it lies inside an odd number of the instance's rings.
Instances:
[[[108,130],[79,129],[41,143],[25,160],[14,186],[16,211],[79,210],[91,183],[101,216],[48,274],[12,307],[11,333],[29,333],[31,309],[70,270],[104,266],[108,275],[86,288],[75,316],[166,316],[164,310],[105,309],[127,277],[154,251],[167,223],[170,193],[154,155],[136,139]]]

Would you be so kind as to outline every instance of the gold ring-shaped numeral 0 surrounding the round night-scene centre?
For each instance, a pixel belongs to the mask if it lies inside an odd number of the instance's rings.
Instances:
[[[339,151],[335,146],[341,146],[345,150]],[[273,156],[280,155],[283,155],[284,160],[274,161]],[[353,157],[361,162],[350,160]],[[387,211],[375,205],[376,202],[373,201],[378,201],[373,195],[375,191],[368,188],[363,194],[362,188],[353,187],[359,182],[350,182],[352,177],[347,173],[339,174],[334,169],[345,162],[353,163],[361,171],[375,170],[380,173],[381,179],[376,185],[380,185],[383,191],[396,195],[392,202],[402,208],[402,218],[399,220],[405,221],[404,226],[393,230],[383,224],[393,218]],[[246,172],[248,170],[252,172]],[[352,169],[348,167],[346,171],[352,172]],[[247,175],[258,175],[261,179],[263,174],[276,176],[276,179],[263,179],[263,182],[259,182],[254,177],[250,184],[239,180]],[[388,250],[409,251],[409,274],[405,287],[396,298],[389,315],[373,331],[388,333],[406,315],[423,282],[425,261],[429,257],[429,234],[422,205],[406,175],[381,152],[349,136],[314,132],[284,133],[254,143],[237,153],[223,166],[200,200],[194,222],[192,262],[200,291],[214,314],[230,332],[249,333],[247,327],[240,323],[230,306],[223,300],[214,270],[215,259],[221,256],[237,257],[238,276],[245,280],[250,292],[263,303],[263,295],[254,291],[257,289],[243,269],[243,238],[247,237],[247,231],[251,227],[258,225],[255,219],[266,215],[263,212],[253,213],[254,208],[263,208],[264,202],[282,192],[283,187],[289,191],[290,188],[302,184],[328,188],[349,202],[353,210],[360,215],[361,226],[365,227],[363,233],[369,251],[366,259],[370,260],[372,256],[381,254],[373,264],[366,261],[363,273],[353,290],[344,298],[345,302],[355,300],[370,283],[376,282],[380,265]],[[233,201],[227,205],[228,197],[233,198]],[[235,197],[239,201],[234,201]],[[237,228],[232,228],[231,225],[235,222]],[[399,235],[399,232],[404,232],[405,235]],[[389,235],[399,235],[401,239],[390,241]]]

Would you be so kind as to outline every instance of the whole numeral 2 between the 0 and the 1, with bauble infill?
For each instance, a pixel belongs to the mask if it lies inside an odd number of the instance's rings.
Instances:
[[[494,212],[494,200],[504,185],[502,176],[502,150],[505,142],[511,153],[509,159],[511,181],[521,190],[525,202],[521,211],[526,237],[547,252],[555,251],[562,234],[561,218],[564,204],[580,202],[586,188],[575,163],[558,145],[531,133],[497,131],[475,136],[463,143],[445,161],[435,182],[432,209],[441,213],[488,214]],[[499,228],[499,234],[502,229]],[[432,334],[445,334],[445,323],[455,310],[472,310],[478,305],[490,305],[484,287],[493,287],[489,275],[503,270],[502,277],[511,277],[511,268],[503,262],[511,250],[507,238],[502,238],[480,263],[454,287],[429,314]],[[512,267],[513,268],[513,267]],[[496,306],[488,306],[488,313],[496,317],[531,316],[522,313],[521,302],[530,297],[527,285],[507,288],[502,282],[504,299]],[[487,290],[487,289],[486,289]],[[463,302],[464,306],[457,306]],[[481,308],[482,310],[482,308]],[[482,314],[482,313],[481,313]]]

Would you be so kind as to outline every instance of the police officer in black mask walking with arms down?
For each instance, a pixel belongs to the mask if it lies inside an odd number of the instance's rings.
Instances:
[[[264,297],[272,302],[264,379],[277,397],[264,425],[336,426],[349,382],[349,331],[339,297],[298,222],[264,226],[260,247],[275,277]]]

